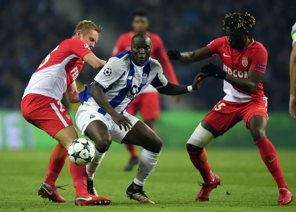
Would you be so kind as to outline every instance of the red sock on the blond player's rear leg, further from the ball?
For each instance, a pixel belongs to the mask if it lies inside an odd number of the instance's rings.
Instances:
[[[67,150],[60,142],[58,142],[50,154],[49,166],[44,180],[45,183],[52,187],[55,186],[55,182],[65,164],[66,158]]]

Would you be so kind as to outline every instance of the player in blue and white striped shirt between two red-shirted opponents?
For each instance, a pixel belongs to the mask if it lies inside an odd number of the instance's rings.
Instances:
[[[126,113],[126,108],[149,84],[161,94],[180,95],[197,90],[203,75],[197,75],[192,86],[168,82],[150,53],[150,37],[144,33],[135,35],[131,51],[111,57],[94,83],[79,94],[82,105],[75,117],[81,133],[93,140],[96,147],[94,159],[86,166],[88,189],[112,140],[144,148],[136,177],[126,190],[128,197],[141,203],[154,203],[142,188],[157,163],[162,141],[145,123]]]

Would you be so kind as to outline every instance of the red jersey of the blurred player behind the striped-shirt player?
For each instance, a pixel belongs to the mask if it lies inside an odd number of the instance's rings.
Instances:
[[[153,59],[157,59],[160,62],[163,68],[163,71],[165,72],[165,75],[168,78],[168,81],[178,84],[176,73],[174,71],[172,63],[170,62],[166,54],[163,41],[155,33],[146,32],[146,34],[151,38],[151,41],[152,41],[152,49],[151,49],[150,57]],[[134,35],[135,34],[133,31],[123,33],[122,35],[120,35],[114,46],[112,56],[122,51],[131,50],[131,39],[133,38]],[[145,89],[145,91],[143,91],[142,93],[152,92],[152,91],[157,92],[156,89],[154,89],[152,86],[148,86],[147,89]]]

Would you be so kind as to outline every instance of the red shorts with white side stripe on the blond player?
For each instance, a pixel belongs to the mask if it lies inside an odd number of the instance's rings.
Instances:
[[[26,121],[54,136],[59,130],[73,125],[72,118],[62,103],[40,94],[28,94],[20,103]]]

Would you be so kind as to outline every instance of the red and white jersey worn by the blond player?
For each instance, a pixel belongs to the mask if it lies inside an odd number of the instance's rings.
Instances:
[[[67,87],[80,73],[84,55],[91,53],[85,41],[70,38],[60,43],[38,66],[25,93],[41,94],[61,100]]]

